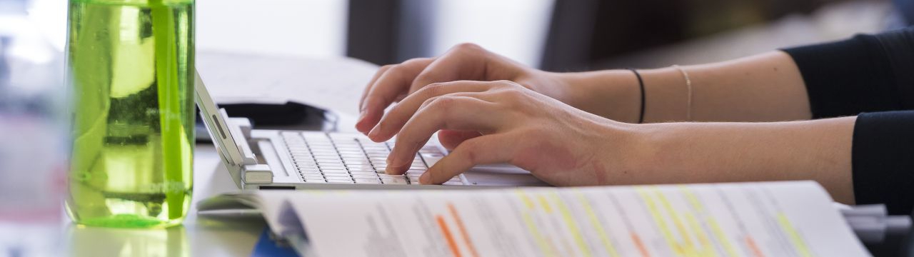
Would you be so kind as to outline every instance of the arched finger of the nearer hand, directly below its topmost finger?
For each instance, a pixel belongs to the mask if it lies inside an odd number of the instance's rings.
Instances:
[[[388,174],[405,172],[422,145],[441,129],[494,131],[501,122],[495,108],[494,103],[472,97],[442,96],[432,100],[398,134],[388,155]]]

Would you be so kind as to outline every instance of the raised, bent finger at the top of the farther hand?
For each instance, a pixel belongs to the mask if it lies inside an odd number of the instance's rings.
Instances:
[[[432,83],[453,80],[485,80],[485,63],[490,54],[475,44],[460,44],[449,49],[440,58],[422,70],[409,85],[409,93],[419,91]]]

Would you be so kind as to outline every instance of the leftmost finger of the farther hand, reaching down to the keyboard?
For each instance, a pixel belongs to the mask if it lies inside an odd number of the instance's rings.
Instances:
[[[375,126],[384,109],[397,100],[401,94],[409,92],[409,85],[422,70],[429,66],[433,59],[409,59],[399,65],[390,67],[375,81],[363,101],[362,119],[356,123],[356,130],[367,133]]]

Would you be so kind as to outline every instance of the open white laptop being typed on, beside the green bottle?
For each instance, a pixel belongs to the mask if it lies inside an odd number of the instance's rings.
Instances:
[[[547,186],[510,165],[476,166],[443,185],[420,185],[419,177],[447,155],[432,136],[404,175],[384,173],[393,140],[372,142],[363,134],[257,130],[245,118],[218,109],[197,74],[200,117],[222,163],[239,189],[436,189]]]

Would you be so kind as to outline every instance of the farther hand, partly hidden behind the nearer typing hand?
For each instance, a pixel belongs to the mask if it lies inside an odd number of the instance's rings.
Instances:
[[[511,80],[527,89],[561,99],[566,94],[562,90],[567,87],[562,86],[564,81],[559,77],[557,73],[526,67],[473,44],[458,45],[438,58],[409,59],[377,70],[359,101],[356,129],[367,134],[390,104],[431,83]]]

